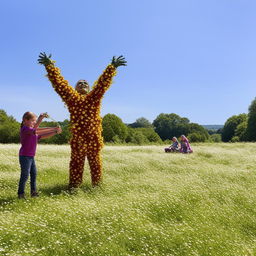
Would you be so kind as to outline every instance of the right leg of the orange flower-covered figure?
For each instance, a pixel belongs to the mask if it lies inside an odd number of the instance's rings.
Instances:
[[[102,160],[101,160],[101,150],[95,150],[88,152],[87,158],[91,170],[92,185],[99,185],[102,179]]]

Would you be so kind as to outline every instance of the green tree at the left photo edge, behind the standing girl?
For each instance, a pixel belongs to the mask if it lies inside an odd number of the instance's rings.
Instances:
[[[18,143],[20,123],[0,109],[0,143]]]

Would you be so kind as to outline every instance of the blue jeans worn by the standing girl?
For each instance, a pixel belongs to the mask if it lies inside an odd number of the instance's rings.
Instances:
[[[36,163],[33,156],[19,156],[20,160],[20,182],[18,195],[25,193],[25,186],[30,175],[30,189],[31,193],[36,192]]]

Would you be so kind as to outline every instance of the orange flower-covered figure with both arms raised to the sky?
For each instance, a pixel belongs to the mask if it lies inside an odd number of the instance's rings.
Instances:
[[[69,186],[78,187],[82,184],[85,157],[89,162],[92,185],[98,185],[102,180],[101,100],[116,75],[116,68],[125,66],[126,61],[123,56],[113,57],[112,63],[107,66],[89,91],[89,85],[85,80],[79,80],[75,89],[70,86],[50,58],[51,55],[40,53],[38,62],[45,66],[54,90],[60,95],[70,112],[72,137]]]

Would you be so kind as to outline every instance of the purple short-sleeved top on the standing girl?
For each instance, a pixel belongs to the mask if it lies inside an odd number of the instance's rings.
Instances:
[[[40,135],[36,135],[36,129],[22,126],[20,128],[20,156],[35,156],[36,146]]]

